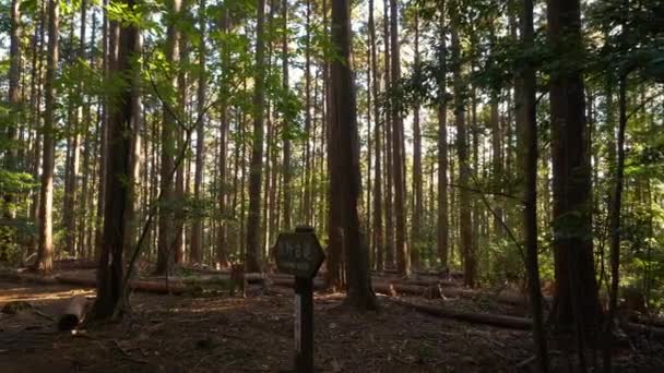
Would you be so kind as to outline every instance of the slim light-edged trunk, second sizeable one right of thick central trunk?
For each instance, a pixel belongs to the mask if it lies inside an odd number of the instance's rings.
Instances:
[[[419,74],[419,10],[415,10],[415,74]],[[411,229],[411,263],[419,267],[419,240],[423,215],[422,188],[422,130],[419,128],[419,103],[413,107],[413,220]]]

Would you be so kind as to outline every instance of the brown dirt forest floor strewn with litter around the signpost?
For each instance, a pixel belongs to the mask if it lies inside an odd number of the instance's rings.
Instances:
[[[0,282],[0,372],[288,372],[293,369],[293,294],[274,288],[246,299],[135,293],[121,323],[72,333],[55,318],[75,294],[91,290]],[[315,361],[320,372],[527,372],[527,332],[471,325],[418,313],[380,298],[380,311],[357,313],[340,294],[315,300]],[[461,300],[439,300],[449,306]],[[509,311],[509,310],[502,310]],[[514,313],[514,312],[512,312]],[[567,352],[552,351],[555,371]],[[664,349],[636,340],[617,354],[620,372],[664,372]]]

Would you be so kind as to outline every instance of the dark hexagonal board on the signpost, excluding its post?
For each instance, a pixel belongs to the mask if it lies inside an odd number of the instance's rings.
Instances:
[[[282,273],[311,278],[324,260],[318,238],[311,232],[280,233],[276,239],[276,267]]]

